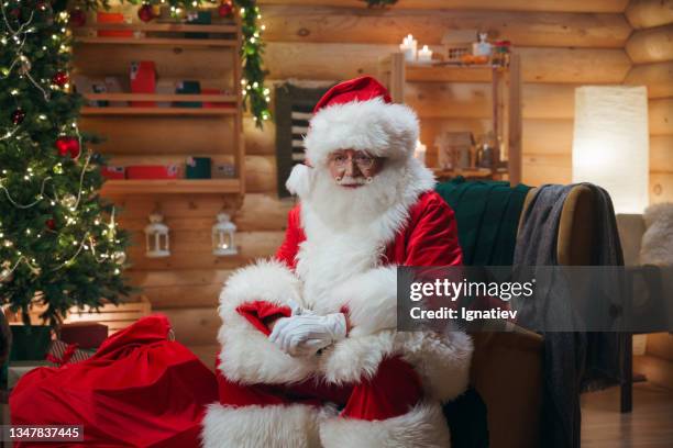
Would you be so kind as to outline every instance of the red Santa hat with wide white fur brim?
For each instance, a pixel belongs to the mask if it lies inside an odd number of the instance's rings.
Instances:
[[[366,150],[394,159],[413,155],[419,134],[416,113],[393,103],[386,88],[371,76],[332,87],[313,114],[305,138],[311,165],[323,164],[336,149]]]

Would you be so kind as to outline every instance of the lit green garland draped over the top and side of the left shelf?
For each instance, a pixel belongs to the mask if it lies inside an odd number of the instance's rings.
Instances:
[[[262,33],[264,25],[258,22],[262,19],[256,0],[121,0],[131,4],[141,4],[141,9],[165,5],[177,16],[181,11],[198,9],[203,4],[220,4],[220,9],[233,12],[238,8],[241,14],[243,44],[241,45],[241,65],[243,67],[243,105],[250,110],[255,119],[257,127],[271,119],[268,104],[271,102],[269,90],[264,87],[266,72],[262,69],[262,55],[264,43]],[[96,10],[98,8],[109,9],[110,0],[78,0],[75,5]],[[150,12],[151,14],[151,12]],[[150,15],[151,18],[151,15]]]

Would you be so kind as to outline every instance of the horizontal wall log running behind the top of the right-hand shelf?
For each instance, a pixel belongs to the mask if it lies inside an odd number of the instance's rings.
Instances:
[[[341,80],[377,72],[382,56],[399,49],[397,45],[365,44],[267,44],[265,66],[274,79]],[[539,48],[516,49],[521,55],[525,82],[621,83],[631,61],[622,49],[616,48]],[[475,70],[478,71],[478,70]],[[474,79],[437,79],[487,81]]]

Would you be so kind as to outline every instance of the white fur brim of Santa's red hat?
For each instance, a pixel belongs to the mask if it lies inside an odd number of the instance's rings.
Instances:
[[[418,116],[404,104],[382,98],[352,101],[321,109],[313,115],[305,138],[311,164],[323,164],[336,149],[366,150],[377,157],[406,158],[418,141]]]

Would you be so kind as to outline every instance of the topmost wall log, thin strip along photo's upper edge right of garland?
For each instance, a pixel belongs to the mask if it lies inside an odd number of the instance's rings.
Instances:
[[[399,0],[393,9],[431,10],[500,10],[500,11],[564,11],[564,12],[624,12],[629,0]],[[258,4],[293,4],[300,7],[340,7],[364,9],[362,0],[260,0]]]

